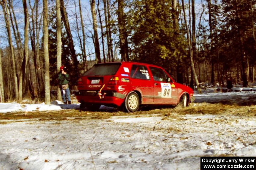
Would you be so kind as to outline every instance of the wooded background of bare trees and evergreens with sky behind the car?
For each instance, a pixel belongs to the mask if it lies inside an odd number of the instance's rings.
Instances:
[[[156,64],[201,88],[255,79],[255,0],[0,0],[0,99],[50,103],[95,63]]]

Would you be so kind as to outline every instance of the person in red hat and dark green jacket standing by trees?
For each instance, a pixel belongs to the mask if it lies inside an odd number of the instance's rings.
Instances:
[[[61,97],[64,104],[67,104],[67,102],[68,104],[71,104],[70,91],[69,91],[69,85],[68,85],[70,81],[70,77],[66,70],[67,67],[61,66],[60,69],[61,71],[58,74],[58,81],[61,88]]]

